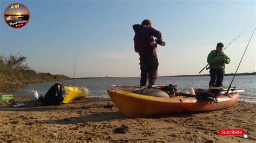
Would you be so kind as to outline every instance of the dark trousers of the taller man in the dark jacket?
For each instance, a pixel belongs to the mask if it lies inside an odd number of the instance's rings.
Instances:
[[[139,58],[140,65],[140,86],[145,87],[147,78],[149,85],[156,85],[158,60],[154,57]]]

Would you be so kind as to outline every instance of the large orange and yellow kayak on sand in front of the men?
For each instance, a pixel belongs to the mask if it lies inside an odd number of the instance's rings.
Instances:
[[[229,108],[238,102],[239,94],[217,96],[218,103],[190,97],[154,97],[129,91],[109,89],[117,108],[127,117],[148,117],[177,112],[215,111]]]

